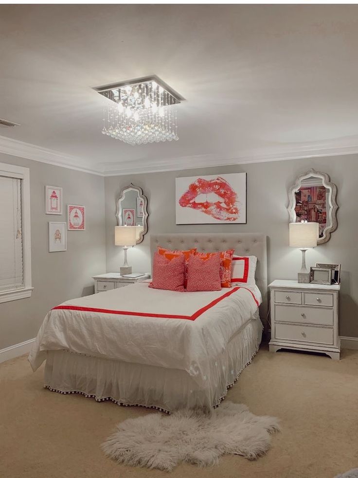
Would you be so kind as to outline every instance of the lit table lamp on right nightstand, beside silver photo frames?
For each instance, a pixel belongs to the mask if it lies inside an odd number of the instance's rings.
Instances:
[[[289,245],[292,248],[302,250],[302,268],[298,273],[297,280],[300,284],[309,283],[309,271],[306,269],[305,254],[307,248],[317,246],[318,228],[318,222],[291,222],[289,224]]]

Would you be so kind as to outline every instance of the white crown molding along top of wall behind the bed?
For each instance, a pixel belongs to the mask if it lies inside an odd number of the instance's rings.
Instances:
[[[343,156],[358,153],[358,146],[326,147],[321,149],[301,149],[297,151],[277,150],[271,153],[250,154],[224,159],[221,155],[197,155],[171,158],[165,160],[125,161],[120,163],[120,169],[104,168],[103,175],[124,176],[128,174],[161,173],[165,171],[181,171],[183,169],[210,168],[215,166],[232,166],[259,162],[285,161],[290,159],[319,158],[324,156]]]

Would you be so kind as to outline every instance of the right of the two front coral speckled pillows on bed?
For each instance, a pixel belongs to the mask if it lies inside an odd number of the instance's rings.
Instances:
[[[187,292],[220,290],[220,254],[215,252],[210,257],[191,255],[188,261]]]

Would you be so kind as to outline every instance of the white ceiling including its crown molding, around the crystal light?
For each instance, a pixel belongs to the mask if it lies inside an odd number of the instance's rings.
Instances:
[[[358,5],[0,5],[0,151],[106,175],[357,152],[357,52]],[[150,74],[179,141],[102,135],[92,87]]]

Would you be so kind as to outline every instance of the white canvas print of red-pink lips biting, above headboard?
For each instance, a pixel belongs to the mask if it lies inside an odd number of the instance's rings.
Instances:
[[[246,173],[177,177],[176,224],[246,224]]]

